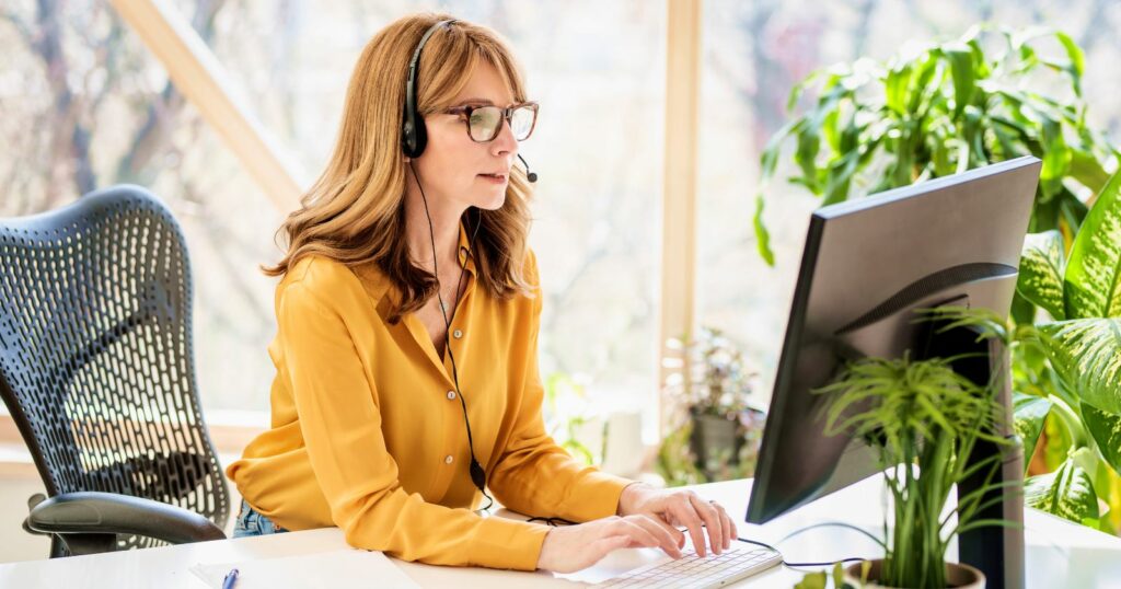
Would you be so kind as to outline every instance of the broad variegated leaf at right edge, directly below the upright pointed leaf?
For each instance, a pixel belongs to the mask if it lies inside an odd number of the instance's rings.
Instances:
[[[1083,403],[1121,414],[1121,319],[1056,321],[1036,329],[1066,388]]]

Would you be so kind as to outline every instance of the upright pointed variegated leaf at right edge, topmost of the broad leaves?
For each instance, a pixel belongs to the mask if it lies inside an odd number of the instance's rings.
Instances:
[[[1068,317],[1121,316],[1121,172],[1105,183],[1086,214],[1067,263]]]

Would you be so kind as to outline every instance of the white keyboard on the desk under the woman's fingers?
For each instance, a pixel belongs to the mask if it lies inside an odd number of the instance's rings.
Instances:
[[[732,547],[720,555],[701,558],[696,552],[687,551],[679,560],[634,569],[593,587],[707,589],[730,585],[781,563],[782,555],[773,550],[732,542]]]

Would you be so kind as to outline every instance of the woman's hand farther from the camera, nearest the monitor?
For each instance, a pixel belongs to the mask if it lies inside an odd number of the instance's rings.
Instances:
[[[619,497],[618,514],[646,515],[671,527],[687,527],[700,556],[705,555],[702,524],[708,528],[708,545],[716,554],[728,550],[738,535],[722,505],[704,500],[691,490],[656,489],[641,482],[628,485]]]

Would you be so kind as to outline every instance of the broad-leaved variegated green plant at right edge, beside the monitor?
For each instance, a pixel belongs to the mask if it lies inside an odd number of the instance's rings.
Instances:
[[[1117,533],[1121,523],[1121,173],[1099,193],[1069,252],[1056,231],[1029,234],[1017,291],[1049,319],[1016,326],[1016,429],[1044,460],[1027,503]],[[1109,513],[1100,509],[1099,499]],[[1108,517],[1102,517],[1108,515]]]

